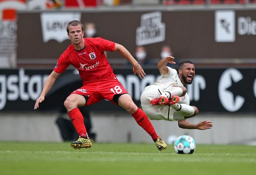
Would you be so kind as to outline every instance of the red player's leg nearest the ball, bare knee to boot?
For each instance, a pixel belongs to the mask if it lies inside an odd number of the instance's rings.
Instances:
[[[158,150],[166,149],[167,145],[160,139],[155,132],[154,127],[149,121],[147,115],[136,104],[132,101],[132,98],[129,94],[122,94],[118,99],[118,104],[123,107],[129,114],[133,116],[139,126],[141,126],[155,142]]]

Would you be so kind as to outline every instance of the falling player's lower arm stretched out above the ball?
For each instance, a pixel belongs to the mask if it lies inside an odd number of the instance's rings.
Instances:
[[[213,127],[213,124],[211,121],[202,121],[198,124],[189,123],[188,121],[184,120],[178,120],[178,126],[182,129],[199,129],[199,130],[206,130],[211,129]]]

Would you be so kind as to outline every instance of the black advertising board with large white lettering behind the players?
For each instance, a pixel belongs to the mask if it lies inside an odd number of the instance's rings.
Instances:
[[[52,70],[1,69],[0,111],[34,111],[43,83]],[[132,69],[114,69],[118,80],[139,106],[140,94],[147,85],[160,76],[157,69],[144,69],[146,78],[140,80]],[[67,96],[82,86],[74,70],[61,74],[38,111],[57,110]],[[256,112],[256,69],[197,69],[191,85],[187,86],[190,105],[200,112]],[[103,100],[89,107],[91,111],[124,111],[121,107]]]

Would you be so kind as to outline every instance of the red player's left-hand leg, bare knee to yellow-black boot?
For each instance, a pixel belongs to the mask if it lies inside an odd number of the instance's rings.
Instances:
[[[71,143],[71,147],[75,149],[91,148],[93,146],[93,142],[89,138],[85,128],[84,117],[78,109],[78,107],[84,106],[85,104],[85,97],[79,94],[71,94],[64,102],[70,120],[79,134],[79,139]]]

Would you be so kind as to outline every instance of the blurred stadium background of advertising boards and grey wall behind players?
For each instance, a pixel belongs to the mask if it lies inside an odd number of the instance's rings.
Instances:
[[[188,134],[200,144],[254,145],[255,5],[255,0],[1,0],[0,141],[62,141],[55,121],[67,88],[80,83],[73,67],[59,77],[39,110],[33,108],[70,45],[67,23],[77,19],[93,23],[91,34],[124,45],[134,57],[137,47],[146,51],[150,64],[142,63],[143,80],[118,53],[106,53],[137,105],[145,86],[159,76],[163,46],[177,63],[195,63],[196,77],[187,89],[200,113],[189,121],[211,120],[214,127],[184,130],[177,122],[151,121],[163,140]],[[102,101],[87,109],[97,142],[152,142],[120,107]]]

